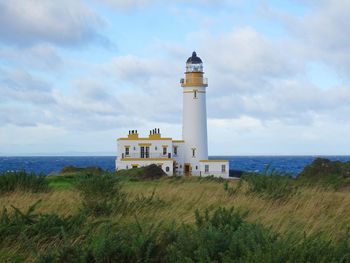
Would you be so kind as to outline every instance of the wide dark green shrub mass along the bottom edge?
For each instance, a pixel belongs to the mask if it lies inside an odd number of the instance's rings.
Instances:
[[[246,213],[196,212],[195,225],[104,223],[81,244],[43,254],[51,262],[348,262],[349,237],[331,244],[320,235],[283,237],[249,223]],[[70,255],[76,255],[69,261]]]

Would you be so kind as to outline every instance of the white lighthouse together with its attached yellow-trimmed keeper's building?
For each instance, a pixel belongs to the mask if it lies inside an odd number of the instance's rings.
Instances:
[[[229,177],[227,160],[208,160],[206,89],[203,63],[196,52],[187,59],[183,90],[182,140],[162,137],[153,129],[147,137],[137,130],[118,139],[116,169],[159,165],[168,175]]]

